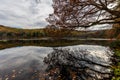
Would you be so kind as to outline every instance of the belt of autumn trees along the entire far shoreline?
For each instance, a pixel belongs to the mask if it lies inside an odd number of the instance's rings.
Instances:
[[[0,40],[2,39],[38,39],[38,38],[118,38],[120,39],[120,29],[100,30],[100,31],[77,31],[65,28],[55,28],[48,25],[39,30],[17,30],[0,31]]]

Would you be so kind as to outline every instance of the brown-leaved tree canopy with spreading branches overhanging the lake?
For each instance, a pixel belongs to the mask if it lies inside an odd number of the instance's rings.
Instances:
[[[120,23],[119,0],[53,0],[54,13],[46,19],[63,28]]]

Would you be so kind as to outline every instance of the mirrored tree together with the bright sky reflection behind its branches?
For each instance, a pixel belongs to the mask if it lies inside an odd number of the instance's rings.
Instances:
[[[52,80],[109,80],[111,56],[109,48],[79,45],[54,48],[44,62],[48,71],[58,70]]]

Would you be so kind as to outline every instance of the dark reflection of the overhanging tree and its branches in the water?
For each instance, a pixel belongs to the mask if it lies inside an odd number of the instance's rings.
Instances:
[[[108,53],[108,52],[107,52]],[[109,80],[110,64],[87,50],[54,49],[44,62],[51,80]],[[49,79],[47,79],[49,80]]]

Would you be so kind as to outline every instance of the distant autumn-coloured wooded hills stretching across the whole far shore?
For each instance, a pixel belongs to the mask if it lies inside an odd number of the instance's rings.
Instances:
[[[77,37],[77,38],[118,38],[120,35],[118,29],[110,30],[94,30],[94,31],[76,31],[72,30],[70,33],[65,31],[57,31],[51,29],[19,29],[0,25],[0,40],[1,39],[33,39],[41,37]],[[59,36],[58,36],[59,35]],[[120,38],[120,37],[119,37]]]

